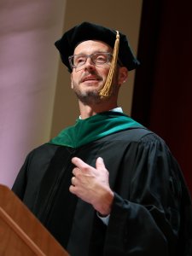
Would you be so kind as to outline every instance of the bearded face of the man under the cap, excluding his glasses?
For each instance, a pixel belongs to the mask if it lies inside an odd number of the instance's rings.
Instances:
[[[98,52],[113,53],[113,49],[103,42],[89,40],[79,44],[74,50],[74,55],[92,55]],[[102,89],[108,78],[109,68],[110,62],[95,65],[90,57],[83,66],[73,68],[71,76],[72,88],[81,102],[89,103],[101,101],[99,90]],[[113,83],[117,84],[117,79],[114,79]]]

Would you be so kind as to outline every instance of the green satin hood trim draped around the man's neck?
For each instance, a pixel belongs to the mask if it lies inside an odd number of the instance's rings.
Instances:
[[[97,113],[87,119],[77,119],[75,125],[62,130],[57,137],[49,141],[51,144],[79,148],[118,131],[143,127],[125,113]]]

